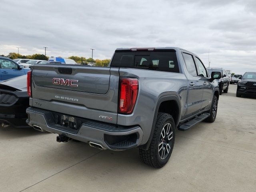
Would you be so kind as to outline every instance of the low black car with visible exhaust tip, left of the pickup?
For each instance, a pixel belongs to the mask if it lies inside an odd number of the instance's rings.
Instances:
[[[0,82],[0,127],[29,127],[26,124],[28,107],[26,75]]]

